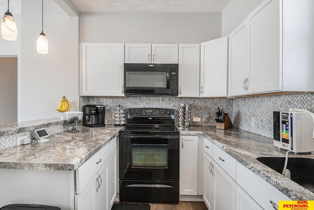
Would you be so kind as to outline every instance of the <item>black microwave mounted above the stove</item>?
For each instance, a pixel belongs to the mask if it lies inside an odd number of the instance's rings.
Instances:
[[[178,96],[178,64],[125,63],[124,94]]]

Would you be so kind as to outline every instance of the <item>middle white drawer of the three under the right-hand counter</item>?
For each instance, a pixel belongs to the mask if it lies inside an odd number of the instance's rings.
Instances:
[[[213,146],[213,160],[235,180],[236,160],[217,146]]]

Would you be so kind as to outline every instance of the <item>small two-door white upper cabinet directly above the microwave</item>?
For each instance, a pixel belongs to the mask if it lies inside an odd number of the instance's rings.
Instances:
[[[178,44],[125,44],[125,63],[178,63]]]

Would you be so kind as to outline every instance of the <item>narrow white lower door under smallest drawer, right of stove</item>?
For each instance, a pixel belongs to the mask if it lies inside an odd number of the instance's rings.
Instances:
[[[203,178],[203,200],[209,210],[212,210],[212,158],[204,152],[204,178]]]

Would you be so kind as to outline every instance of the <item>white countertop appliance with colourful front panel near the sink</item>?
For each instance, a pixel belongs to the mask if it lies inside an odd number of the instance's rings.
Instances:
[[[308,111],[273,112],[274,145],[298,152],[314,152],[313,113]]]

